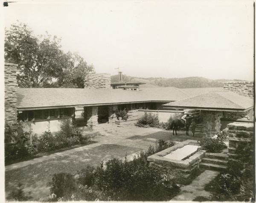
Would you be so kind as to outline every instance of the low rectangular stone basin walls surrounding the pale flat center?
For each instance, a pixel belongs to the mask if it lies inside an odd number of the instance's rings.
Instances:
[[[175,160],[164,157],[167,154],[170,154],[177,149],[183,148],[186,145],[198,146],[198,143],[196,140],[186,140],[175,146],[169,147],[168,149],[165,149],[161,152],[157,152],[156,154],[149,156],[147,160],[149,161],[149,164],[151,166],[163,167],[165,169],[175,169],[189,176],[193,170],[199,168],[199,163],[201,162],[201,159],[204,157],[205,154],[204,150],[195,152],[195,154],[191,155],[185,160]],[[190,154],[188,154],[188,156],[189,155]]]

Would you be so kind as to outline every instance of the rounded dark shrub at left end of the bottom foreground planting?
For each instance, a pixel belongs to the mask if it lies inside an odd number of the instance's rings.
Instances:
[[[72,174],[58,173],[52,177],[49,183],[50,192],[58,197],[64,197],[72,194],[76,190],[76,180]]]

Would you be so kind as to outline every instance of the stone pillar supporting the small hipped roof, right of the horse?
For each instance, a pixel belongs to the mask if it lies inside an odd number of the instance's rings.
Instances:
[[[201,111],[203,131],[207,137],[213,137],[221,129],[222,112],[219,111]]]

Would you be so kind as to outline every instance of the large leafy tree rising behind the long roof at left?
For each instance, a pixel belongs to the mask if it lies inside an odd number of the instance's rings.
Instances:
[[[36,37],[24,23],[18,22],[6,30],[5,60],[18,64],[18,86],[84,87],[84,77],[94,72],[93,66],[88,66],[77,53],[64,53],[60,43],[60,38],[47,32]]]

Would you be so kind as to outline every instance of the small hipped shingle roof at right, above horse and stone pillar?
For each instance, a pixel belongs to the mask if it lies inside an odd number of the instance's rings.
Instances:
[[[163,105],[165,109],[199,109],[214,111],[247,111],[253,99],[231,91],[211,91]]]

